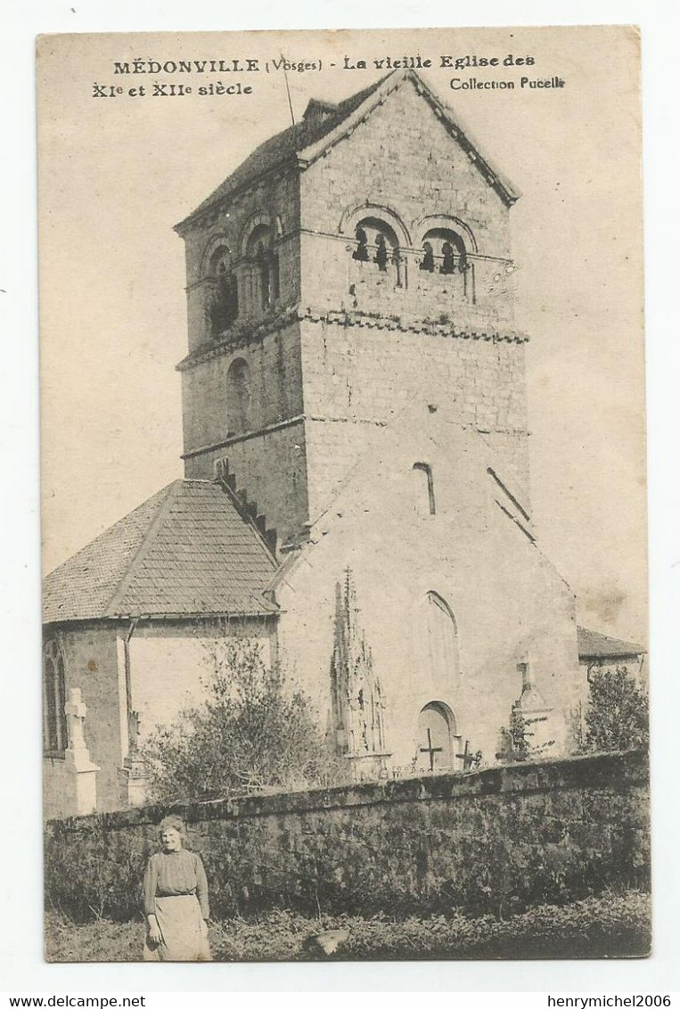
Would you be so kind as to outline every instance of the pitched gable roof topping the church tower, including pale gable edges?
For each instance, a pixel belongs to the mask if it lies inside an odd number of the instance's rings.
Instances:
[[[177,225],[177,230],[182,234],[188,224],[270,172],[287,164],[307,167],[348,136],[358,122],[370,115],[405,81],[411,81],[500,199],[508,207],[515,203],[520,197],[519,192],[492,166],[469,129],[463,128],[416,71],[395,70],[338,105],[310,99],[302,122],[289,126],[256,147],[195,211]]]

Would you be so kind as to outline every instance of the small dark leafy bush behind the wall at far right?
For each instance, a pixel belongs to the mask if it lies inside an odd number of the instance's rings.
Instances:
[[[626,666],[590,676],[583,749],[592,753],[649,746],[649,699]]]

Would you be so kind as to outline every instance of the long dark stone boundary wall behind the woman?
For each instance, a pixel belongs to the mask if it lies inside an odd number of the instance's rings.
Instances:
[[[52,820],[48,899],[125,917],[159,807]],[[642,752],[181,807],[214,916],[266,907],[505,913],[649,882]],[[90,911],[88,910],[90,909]]]

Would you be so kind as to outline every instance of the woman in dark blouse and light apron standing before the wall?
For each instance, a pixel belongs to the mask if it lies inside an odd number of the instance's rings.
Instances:
[[[159,824],[162,852],[152,855],[144,873],[145,961],[208,961],[210,906],[201,856],[186,851],[179,816]]]

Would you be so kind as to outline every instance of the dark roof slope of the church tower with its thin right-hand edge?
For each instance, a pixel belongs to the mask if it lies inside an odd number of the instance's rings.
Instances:
[[[490,174],[494,188],[500,192],[502,198],[507,203],[513,203],[517,200],[519,193],[491,165],[489,159],[482,153],[479,145],[472,139],[467,127],[463,128],[454,119],[451,110],[439,101],[422,78],[412,70],[391,71],[378,81],[375,81],[374,84],[346,98],[337,105],[315,98],[311,99],[305,113],[306,118],[303,118],[301,122],[293,126],[289,126],[288,129],[282,130],[280,133],[274,134],[274,136],[269,137],[268,140],[265,140],[258,147],[255,147],[252,153],[196,210],[177,225],[178,230],[182,231],[186,224],[200,217],[201,214],[211,207],[217,206],[217,204],[230,194],[247,187],[256,179],[266,175],[266,173],[271,172],[273,169],[284,165],[287,161],[293,161],[298,153],[317,144],[325,136],[332,133],[336,127],[342,125],[345,120],[348,120],[352,113],[356,112],[359,106],[363,105],[371,95],[380,90],[391,90],[391,82],[393,81],[395,85],[402,79],[410,79],[416,83],[419,91],[435,107],[438,116],[455,130],[458,141],[465,149],[474,152],[474,159],[477,165],[480,169],[483,166]],[[386,82],[390,83],[386,84]],[[385,88],[383,88],[383,85],[385,85]],[[308,115],[311,110],[323,110],[324,114]]]

